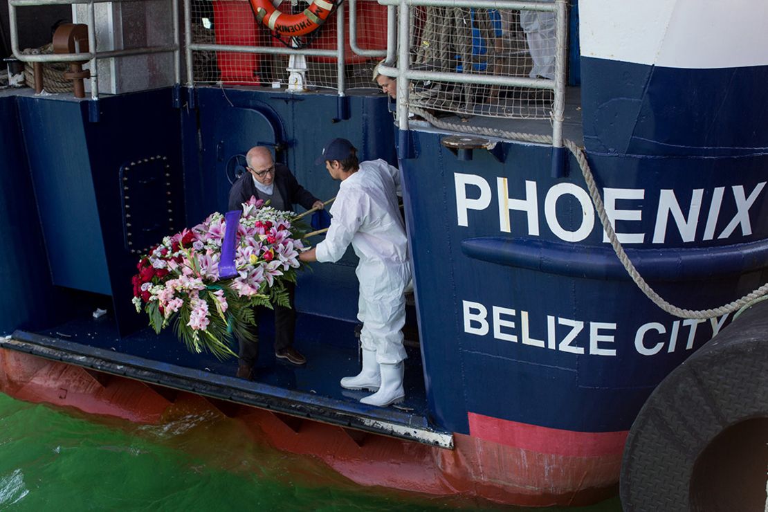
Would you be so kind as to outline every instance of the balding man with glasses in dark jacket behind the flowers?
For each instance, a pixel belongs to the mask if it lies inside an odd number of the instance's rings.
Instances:
[[[269,201],[276,210],[293,211],[294,204],[300,204],[306,210],[323,208],[323,201],[317,199],[302,187],[293,173],[283,164],[276,164],[270,150],[263,146],[250,148],[246,155],[247,173],[243,173],[230,189],[229,210],[240,210],[243,203],[256,197]],[[294,309],[293,283],[286,282],[290,308],[275,306],[275,357],[285,359],[294,365],[303,365],[306,358],[293,348],[293,333],[296,329],[296,309]],[[253,365],[259,355],[256,343],[240,342],[240,361],[237,377],[253,378]]]

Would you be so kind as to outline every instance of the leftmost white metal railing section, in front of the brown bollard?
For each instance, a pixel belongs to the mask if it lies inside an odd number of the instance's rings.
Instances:
[[[127,48],[124,50],[97,51],[96,49],[96,15],[95,4],[107,2],[144,2],[146,0],[8,0],[8,21],[10,25],[11,50],[13,56],[22,62],[82,62],[88,61],[91,76],[91,100],[98,100],[98,71],[96,61],[102,58],[127,57],[130,55],[149,55],[155,53],[174,53],[174,78],[177,84],[181,81],[180,37],[179,37],[179,3],[171,0],[171,10],[174,21],[174,44],[166,46],[145,46]],[[72,54],[26,55],[18,48],[18,25],[16,8],[38,5],[88,5],[88,50]]]

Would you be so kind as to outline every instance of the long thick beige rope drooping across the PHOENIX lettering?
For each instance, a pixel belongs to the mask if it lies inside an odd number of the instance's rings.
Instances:
[[[506,138],[510,140],[522,140],[525,142],[532,142],[536,144],[552,144],[551,135],[525,134],[521,132],[498,130],[495,128],[488,128],[488,127],[462,126],[461,124],[454,124],[449,121],[440,121],[439,119],[434,117],[432,114],[429,114],[429,112],[424,111],[421,108],[411,107],[410,110],[414,114],[419,115],[423,117],[425,120],[429,121],[429,123],[431,123],[435,127],[442,128],[443,130],[454,130],[454,131],[461,131],[465,133],[482,134],[488,137],[500,137],[500,138]],[[603,229],[605,230],[605,233],[607,233],[608,238],[611,241],[611,247],[613,247],[614,253],[616,253],[616,256],[618,257],[619,261],[624,266],[624,269],[627,270],[627,274],[629,274],[629,276],[632,278],[632,281],[634,281],[634,283],[641,290],[641,292],[643,292],[648,299],[654,302],[654,304],[659,306],[665,312],[669,313],[670,315],[680,317],[682,319],[713,319],[717,316],[726,315],[728,313],[738,311],[743,307],[750,306],[752,302],[757,301],[758,299],[761,299],[761,297],[765,296],[766,293],[768,293],[768,283],[766,283],[763,286],[760,286],[760,288],[754,289],[752,292],[747,293],[741,299],[734,300],[733,302],[729,302],[724,306],[720,306],[713,309],[700,309],[700,310],[683,309],[683,308],[674,306],[673,304],[670,304],[670,302],[667,302],[667,300],[665,300],[657,292],[655,292],[654,289],[651,288],[650,285],[645,281],[645,279],[643,279],[640,273],[637,272],[637,269],[634,267],[634,264],[632,263],[631,259],[629,259],[629,256],[627,256],[627,253],[624,252],[624,247],[622,247],[621,242],[618,241],[616,232],[614,231],[614,227],[611,226],[611,223],[608,221],[608,216],[607,216],[607,213],[605,213],[603,200],[600,197],[600,193],[598,191],[597,185],[594,183],[594,176],[592,175],[592,170],[589,167],[587,155],[584,153],[584,150],[581,147],[579,147],[576,143],[574,143],[572,140],[566,139],[563,141],[563,144],[565,147],[568,148],[568,150],[571,151],[571,154],[574,155],[574,157],[576,158],[576,161],[578,162],[579,167],[581,168],[581,174],[584,177],[584,181],[587,183],[589,196],[592,199],[592,203],[594,203],[595,210],[597,210],[598,212],[600,223],[603,225]]]

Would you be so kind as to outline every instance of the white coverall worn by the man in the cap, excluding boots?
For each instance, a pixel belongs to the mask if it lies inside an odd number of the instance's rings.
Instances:
[[[403,290],[411,279],[406,230],[397,191],[400,174],[384,160],[361,162],[343,180],[331,206],[326,239],[316,247],[317,261],[336,262],[349,243],[360,262],[357,318],[362,348],[376,351],[376,362],[394,365],[406,358],[402,326],[406,324]]]

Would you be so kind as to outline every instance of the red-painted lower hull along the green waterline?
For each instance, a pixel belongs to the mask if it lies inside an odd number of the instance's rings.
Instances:
[[[562,431],[470,413],[472,434],[454,434],[449,450],[201,398],[8,349],[0,349],[0,391],[147,424],[168,421],[178,408],[198,414],[217,409],[247,424],[254,438],[318,457],[360,485],[528,506],[591,504],[615,494],[627,435]]]

